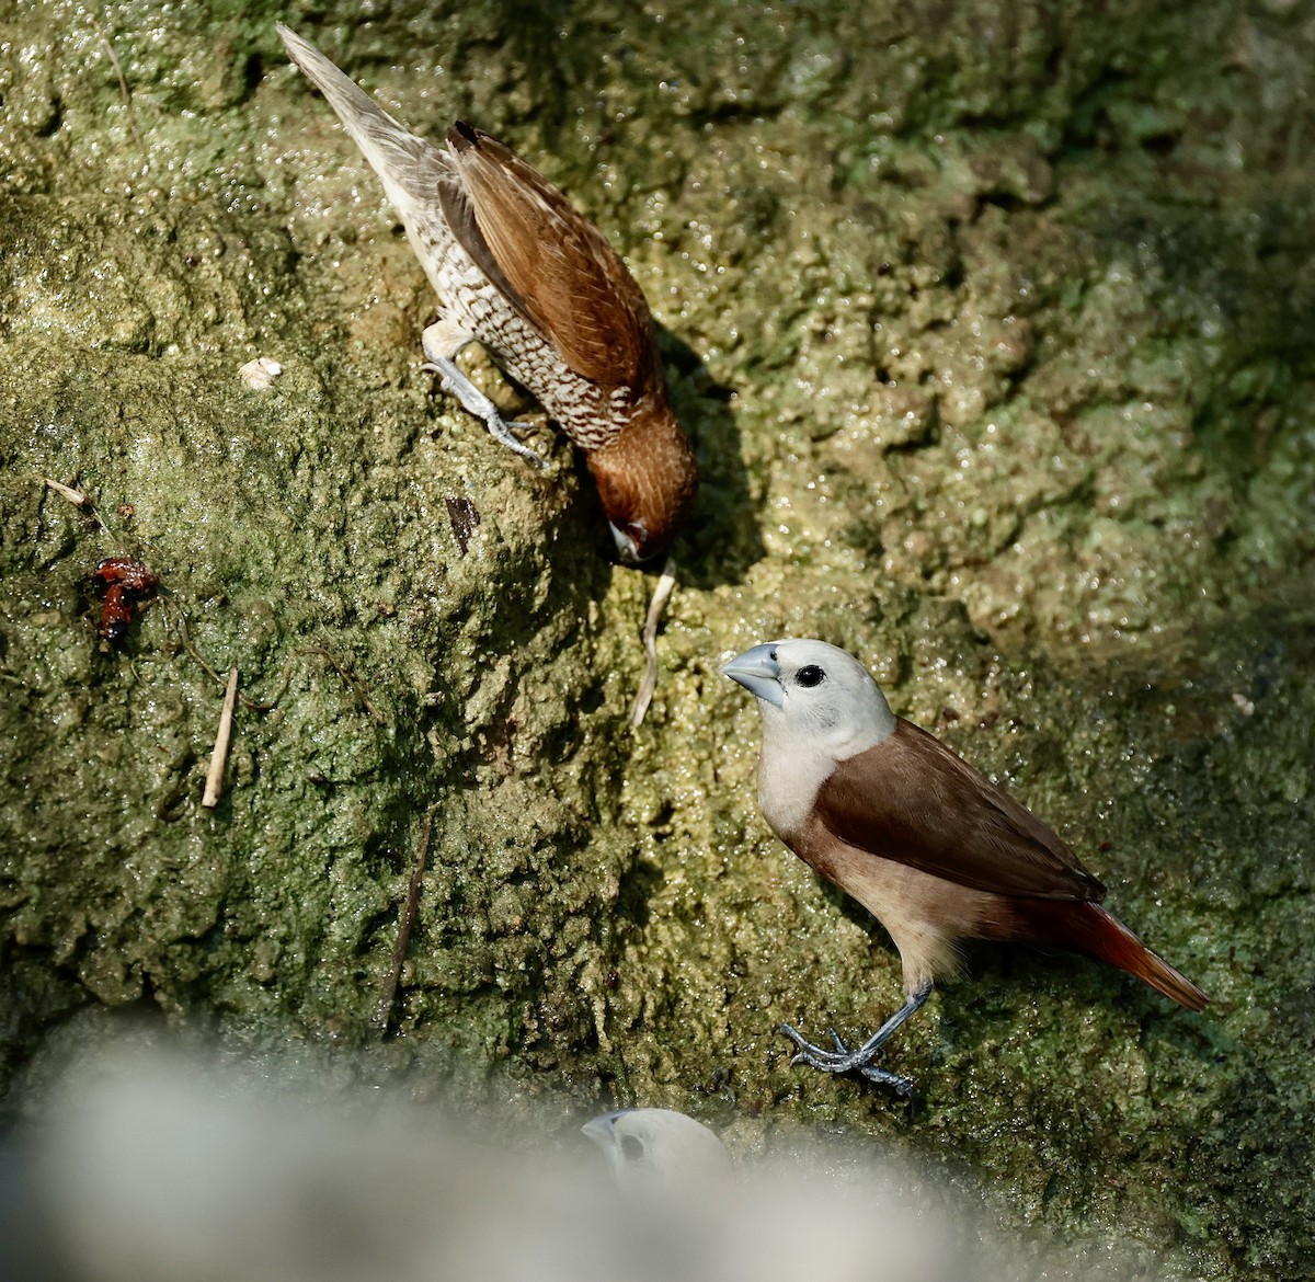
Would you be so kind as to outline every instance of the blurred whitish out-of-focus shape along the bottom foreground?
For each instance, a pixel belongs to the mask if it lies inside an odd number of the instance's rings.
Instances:
[[[181,1055],[134,1051],[84,1064],[9,1152],[0,1274],[60,1282],[982,1277],[964,1269],[952,1225],[878,1173],[840,1175],[801,1158],[736,1174],[694,1144],[707,1160],[685,1162],[677,1148],[651,1178],[614,1181],[575,1136],[577,1153],[542,1144],[515,1153],[444,1128],[418,1106],[371,1106],[356,1116],[348,1108],[289,1102]]]

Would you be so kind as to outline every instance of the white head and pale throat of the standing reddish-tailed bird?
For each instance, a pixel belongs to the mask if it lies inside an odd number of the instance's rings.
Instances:
[[[894,732],[894,713],[868,669],[826,642],[767,642],[738,655],[722,672],[757,697],[763,713],[757,799],[786,842],[836,763]]]

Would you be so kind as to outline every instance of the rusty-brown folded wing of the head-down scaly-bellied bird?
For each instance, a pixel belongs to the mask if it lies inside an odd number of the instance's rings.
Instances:
[[[604,234],[510,147],[460,121],[460,183],[439,200],[452,233],[581,377],[635,384],[651,358],[648,304]]]

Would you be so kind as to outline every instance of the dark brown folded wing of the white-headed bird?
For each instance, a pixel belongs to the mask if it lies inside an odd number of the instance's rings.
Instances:
[[[815,809],[846,844],[961,886],[1105,898],[1105,886],[1031,811],[903,719],[882,743],[835,768]]]

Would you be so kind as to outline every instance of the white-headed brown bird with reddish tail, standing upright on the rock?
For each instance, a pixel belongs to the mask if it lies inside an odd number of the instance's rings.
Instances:
[[[819,640],[768,642],[722,672],[763,713],[757,799],[772,831],[886,928],[903,964],[905,1003],[857,1051],[832,1032],[792,1062],[857,1070],[907,1094],[872,1062],[931,985],[959,969],[961,939],[1016,940],[1090,953],[1187,1010],[1206,994],[1101,907],[1105,886],[1030,810],[924,730],[896,717],[867,669]]]

